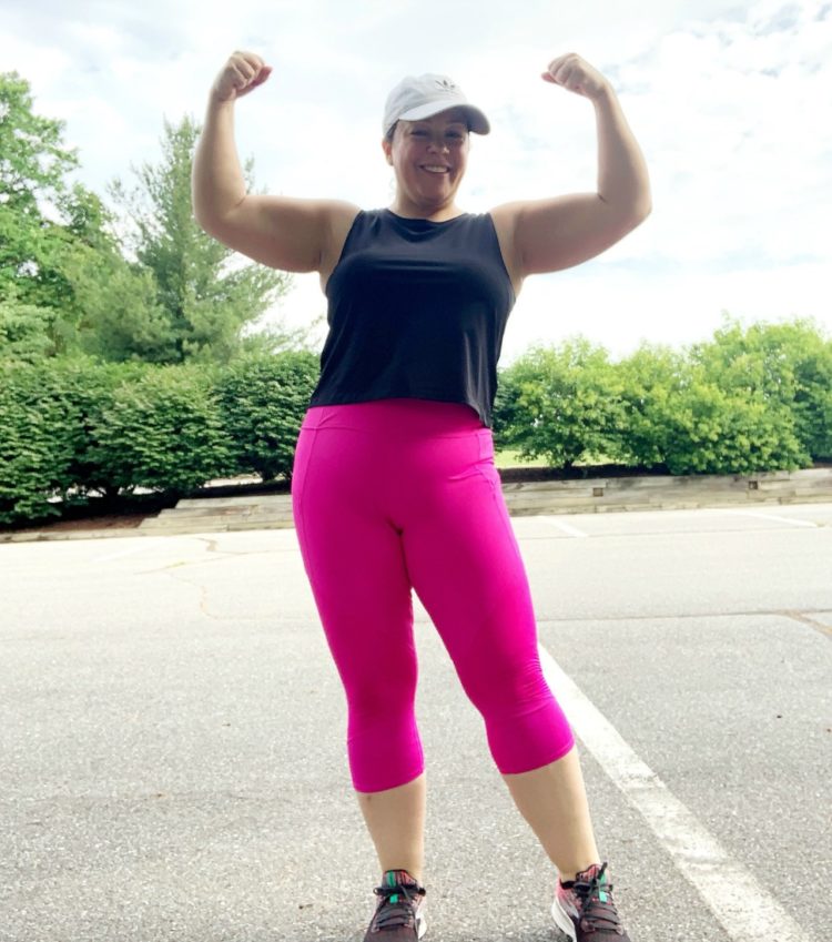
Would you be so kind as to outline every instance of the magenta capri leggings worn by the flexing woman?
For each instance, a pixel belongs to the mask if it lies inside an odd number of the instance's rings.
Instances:
[[[424,770],[412,589],[483,715],[498,769],[526,772],[569,751],[571,730],[540,668],[491,431],[471,408],[404,398],[310,408],[292,502],[346,691],[357,791]]]

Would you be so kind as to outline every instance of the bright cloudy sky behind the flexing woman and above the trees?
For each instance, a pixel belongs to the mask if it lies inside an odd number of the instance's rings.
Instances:
[[[592,105],[540,72],[577,52],[609,79],[652,213],[597,259],[527,278],[503,365],[577,334],[612,358],[642,342],[680,348],[723,312],[811,317],[832,336],[830,0],[0,0],[0,71],[65,122],[75,176],[102,197],[160,161],[165,119],[202,120],[237,49],[274,69],[236,105],[257,188],[365,209],[392,200],[381,122],[403,75],[450,75],[490,119],[459,192],[469,212],[593,190]],[[325,310],[317,275],[295,275],[267,321]]]

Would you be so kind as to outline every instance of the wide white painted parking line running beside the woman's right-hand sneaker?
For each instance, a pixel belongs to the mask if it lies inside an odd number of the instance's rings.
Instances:
[[[605,772],[647,821],[679,871],[722,923],[732,942],[812,942],[753,874],[677,799],[627,745],[575,681],[541,646],[549,687],[572,729]]]

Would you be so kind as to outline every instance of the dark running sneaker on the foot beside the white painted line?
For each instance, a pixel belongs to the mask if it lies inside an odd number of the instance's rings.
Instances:
[[[593,863],[574,882],[558,880],[551,916],[558,942],[630,942],[616,911],[606,863]]]

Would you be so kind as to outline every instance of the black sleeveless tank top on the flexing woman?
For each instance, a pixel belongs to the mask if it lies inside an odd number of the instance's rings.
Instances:
[[[310,405],[438,399],[491,425],[515,293],[489,215],[362,211],[326,296],[329,333]]]

